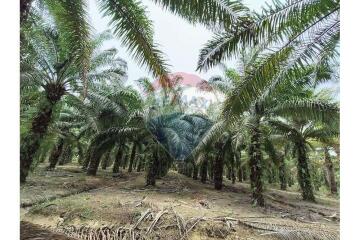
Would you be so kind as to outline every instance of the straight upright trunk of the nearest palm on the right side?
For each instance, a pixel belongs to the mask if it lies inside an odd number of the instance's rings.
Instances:
[[[259,122],[253,129],[251,136],[251,143],[249,147],[249,167],[250,167],[250,182],[252,189],[252,202],[254,205],[265,206],[263,196],[263,183],[262,183],[262,166],[261,166],[261,149],[260,149],[260,129]]]

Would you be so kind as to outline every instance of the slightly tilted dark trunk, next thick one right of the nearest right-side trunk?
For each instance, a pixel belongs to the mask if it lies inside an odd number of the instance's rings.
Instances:
[[[308,166],[308,159],[306,154],[305,143],[297,144],[298,150],[298,179],[302,190],[302,198],[306,201],[315,202],[314,190],[311,184],[310,171]]]

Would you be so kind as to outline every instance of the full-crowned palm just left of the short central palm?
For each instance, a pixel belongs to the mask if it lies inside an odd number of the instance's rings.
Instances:
[[[96,174],[102,156],[97,158],[92,155],[89,150],[92,149],[91,139],[112,127],[126,126],[129,114],[141,109],[142,105],[140,96],[130,87],[118,85],[114,88],[109,86],[98,86],[97,88],[90,88],[91,93],[89,92],[84,102],[78,98],[69,101],[72,110],[67,118],[73,127],[80,128],[86,133],[85,137],[90,142],[83,160],[83,169],[87,169],[88,174],[91,175]],[[120,144],[120,142],[116,143]],[[121,161],[122,158],[122,145],[118,147],[118,151],[120,150],[118,161]],[[90,168],[90,166],[92,167]],[[116,168],[115,172],[117,172]]]

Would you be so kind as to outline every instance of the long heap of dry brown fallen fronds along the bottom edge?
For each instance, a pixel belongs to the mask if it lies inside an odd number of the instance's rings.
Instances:
[[[61,232],[69,237],[84,240],[115,240],[115,239],[189,239],[193,231],[200,222],[208,222],[211,228],[215,228],[216,222],[221,222],[222,230],[227,234],[236,231],[236,226],[243,226],[259,232],[260,235],[276,237],[278,239],[291,240],[337,240],[339,232],[336,230],[325,229],[318,224],[298,224],[296,222],[265,222],[268,216],[249,216],[249,217],[193,217],[185,220],[172,207],[152,212],[151,209],[144,211],[139,219],[131,225],[125,226],[101,226],[98,228],[90,226],[58,226],[55,231]],[[164,231],[166,230],[166,231]],[[169,235],[170,234],[170,235]],[[226,236],[224,236],[226,237]]]

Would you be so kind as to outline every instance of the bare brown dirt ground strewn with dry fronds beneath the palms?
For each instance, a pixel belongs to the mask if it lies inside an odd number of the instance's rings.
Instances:
[[[41,228],[39,239],[339,239],[334,198],[308,203],[297,192],[268,189],[267,207],[258,208],[245,183],[225,180],[216,191],[171,171],[150,188],[144,173],[112,178],[110,170],[88,177],[73,165],[43,169],[21,187],[21,239],[36,239],[31,233]]]

